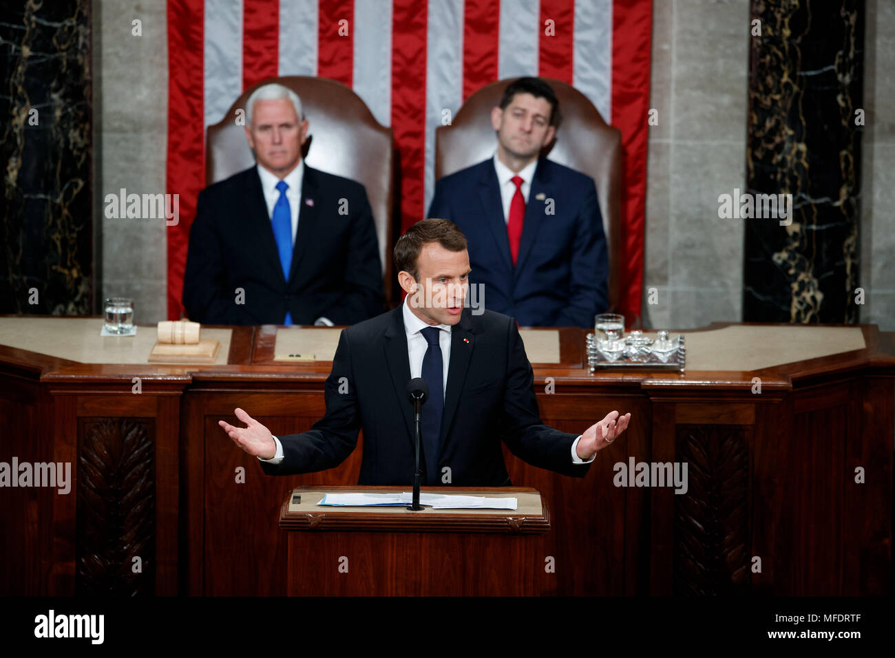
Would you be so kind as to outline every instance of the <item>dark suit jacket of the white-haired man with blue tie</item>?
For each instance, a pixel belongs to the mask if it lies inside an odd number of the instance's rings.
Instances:
[[[321,316],[354,324],[382,312],[379,244],[363,185],[305,164],[299,208],[286,283],[257,169],[200,192],[183,276],[191,320],[281,324],[288,311],[294,324]],[[236,303],[236,288],[244,303]]]

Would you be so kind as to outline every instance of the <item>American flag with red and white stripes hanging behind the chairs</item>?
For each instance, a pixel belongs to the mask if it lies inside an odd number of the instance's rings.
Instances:
[[[622,298],[640,315],[652,0],[169,0],[168,318],[182,316],[183,269],[204,136],[248,87],[316,75],[351,87],[395,133],[402,226],[434,190],[435,129],[483,85],[520,75],[581,90],[624,144]],[[341,33],[340,33],[341,32]],[[560,139],[562,135],[560,134]]]

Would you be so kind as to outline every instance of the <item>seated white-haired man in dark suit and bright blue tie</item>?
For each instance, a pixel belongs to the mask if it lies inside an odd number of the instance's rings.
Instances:
[[[200,192],[183,276],[191,320],[354,324],[382,311],[382,270],[362,184],[304,164],[302,101],[279,84],[246,103],[258,164]]]

